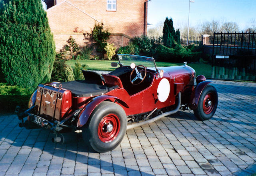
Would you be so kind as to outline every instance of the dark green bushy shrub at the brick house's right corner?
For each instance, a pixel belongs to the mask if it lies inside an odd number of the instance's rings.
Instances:
[[[140,52],[150,52],[153,49],[153,43],[148,36],[132,38],[132,43],[139,48]]]

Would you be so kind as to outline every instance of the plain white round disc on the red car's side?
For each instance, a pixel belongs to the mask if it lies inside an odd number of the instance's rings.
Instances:
[[[165,102],[170,94],[170,83],[166,78],[163,78],[157,88],[158,100]]]

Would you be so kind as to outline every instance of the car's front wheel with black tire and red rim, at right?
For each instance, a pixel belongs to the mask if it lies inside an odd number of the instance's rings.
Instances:
[[[209,106],[209,101],[211,105]],[[200,95],[197,108],[194,115],[199,120],[209,120],[214,115],[218,106],[218,93],[213,86],[206,86]]]

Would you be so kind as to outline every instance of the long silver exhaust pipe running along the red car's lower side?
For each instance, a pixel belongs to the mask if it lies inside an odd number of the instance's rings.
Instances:
[[[152,122],[155,122],[156,120],[159,120],[162,117],[169,116],[170,114],[175,114],[180,109],[180,104],[181,104],[181,95],[180,95],[180,92],[179,92],[179,94],[178,94],[178,105],[177,105],[177,107],[174,110],[165,112],[163,114],[160,114],[160,115],[158,115],[158,116],[156,116],[154,118],[151,118],[151,119],[143,121],[143,122],[138,122],[138,123],[135,123],[135,124],[127,125],[126,130],[129,130],[129,129],[132,129],[132,128],[136,128],[138,126],[150,124]]]

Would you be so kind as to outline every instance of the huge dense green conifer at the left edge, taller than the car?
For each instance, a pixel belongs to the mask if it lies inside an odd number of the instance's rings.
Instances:
[[[55,54],[40,0],[0,1],[0,70],[8,84],[32,90],[48,82]]]

